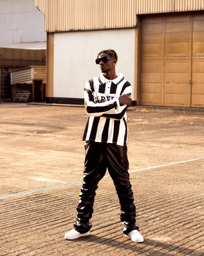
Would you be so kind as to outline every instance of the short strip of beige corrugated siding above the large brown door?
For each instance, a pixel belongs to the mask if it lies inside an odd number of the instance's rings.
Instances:
[[[204,0],[136,0],[137,14],[198,11],[204,9]]]

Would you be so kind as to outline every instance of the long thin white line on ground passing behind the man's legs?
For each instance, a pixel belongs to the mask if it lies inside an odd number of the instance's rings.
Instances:
[[[174,163],[170,163],[170,164],[162,164],[162,165],[152,166],[152,167],[138,169],[138,170],[133,170],[133,171],[130,171],[129,173],[141,172],[141,171],[145,171],[145,170],[151,170],[151,169],[156,169],[156,168],[175,165],[175,164],[189,163],[189,162],[192,162],[192,161],[197,161],[197,160],[202,160],[202,159],[204,159],[204,157],[190,159],[190,160],[184,160],[184,161],[179,161],[179,162],[174,162]],[[104,178],[109,178],[109,177],[111,177],[111,176],[107,175],[107,176],[104,176],[103,179]],[[15,193],[15,194],[10,194],[10,195],[3,195],[3,196],[0,197],[0,199],[4,199],[4,198],[8,198],[8,197],[15,197],[16,195],[24,195],[24,194],[28,194],[28,193],[34,193],[34,192],[47,190],[47,189],[51,189],[51,188],[58,188],[58,187],[73,185],[73,184],[77,184],[77,183],[81,183],[81,182],[82,182],[82,180],[78,180],[76,182],[64,183],[64,184],[54,185],[54,186],[45,187],[45,188],[32,189],[32,190],[28,190],[28,191],[24,191],[24,192],[20,192],[20,193]]]

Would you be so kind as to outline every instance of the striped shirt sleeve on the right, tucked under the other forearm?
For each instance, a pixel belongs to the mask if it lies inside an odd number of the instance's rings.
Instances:
[[[120,95],[121,96],[124,94],[131,95],[131,93],[132,93],[132,86],[128,81],[126,81],[122,87]],[[118,107],[117,109],[110,110],[107,113],[104,113],[102,116],[116,119],[116,120],[121,120],[123,119],[123,116],[126,113],[127,108],[128,108],[128,105],[120,105],[120,107]]]

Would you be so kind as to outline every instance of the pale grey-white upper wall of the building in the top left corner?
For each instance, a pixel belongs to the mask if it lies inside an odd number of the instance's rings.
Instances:
[[[45,16],[35,0],[0,0],[0,47],[10,43],[45,42]]]

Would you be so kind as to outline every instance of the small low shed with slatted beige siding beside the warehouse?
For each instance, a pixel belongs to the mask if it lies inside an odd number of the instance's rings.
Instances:
[[[44,101],[46,85],[46,67],[30,66],[11,72],[12,101],[19,91],[30,91],[31,100]]]

